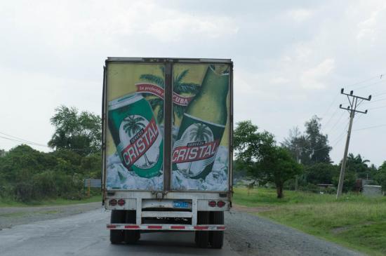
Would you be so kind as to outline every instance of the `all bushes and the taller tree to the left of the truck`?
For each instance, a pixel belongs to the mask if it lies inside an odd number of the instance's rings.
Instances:
[[[0,157],[0,206],[79,201],[88,197],[84,179],[101,178],[100,116],[61,106],[51,123],[55,133],[48,145],[53,151],[21,144]],[[100,189],[93,189],[93,195],[100,195]]]

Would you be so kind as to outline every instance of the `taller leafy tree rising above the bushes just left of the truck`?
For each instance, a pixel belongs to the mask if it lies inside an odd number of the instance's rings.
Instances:
[[[55,109],[51,124],[55,127],[55,133],[48,146],[53,149],[71,149],[82,156],[101,149],[100,116],[62,105]]]

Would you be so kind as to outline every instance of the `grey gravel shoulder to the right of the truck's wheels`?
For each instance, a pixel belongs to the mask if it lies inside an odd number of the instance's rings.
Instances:
[[[231,210],[225,238],[240,255],[363,255],[267,219]]]

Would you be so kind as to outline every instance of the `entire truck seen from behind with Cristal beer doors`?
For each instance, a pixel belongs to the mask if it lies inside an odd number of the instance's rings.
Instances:
[[[194,231],[222,248],[232,207],[233,62],[107,58],[102,93],[102,204],[110,242]]]

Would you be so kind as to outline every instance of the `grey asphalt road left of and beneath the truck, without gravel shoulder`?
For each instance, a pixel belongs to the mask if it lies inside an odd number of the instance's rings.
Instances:
[[[0,255],[238,255],[196,248],[192,232],[141,234],[137,245],[111,245],[109,212],[92,210],[56,220],[22,224],[0,231]]]

